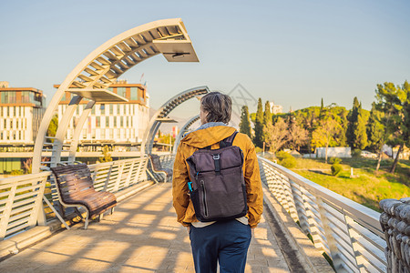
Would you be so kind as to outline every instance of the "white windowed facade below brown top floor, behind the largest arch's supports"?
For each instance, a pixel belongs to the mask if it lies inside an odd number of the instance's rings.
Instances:
[[[67,129],[67,138],[71,139],[85,104],[77,111]],[[67,105],[58,106],[58,121]],[[149,106],[139,104],[96,104],[87,117],[79,141],[135,143],[140,142],[149,125]]]

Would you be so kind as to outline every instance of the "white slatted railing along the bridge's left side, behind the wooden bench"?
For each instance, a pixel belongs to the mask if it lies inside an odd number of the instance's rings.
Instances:
[[[96,190],[116,193],[122,189],[145,181],[148,157],[133,158],[89,165]],[[43,197],[56,207],[56,187],[50,171],[19,177],[0,179],[0,240],[35,227],[37,220],[46,224],[56,217],[46,205]],[[46,220],[42,217],[43,209]]]

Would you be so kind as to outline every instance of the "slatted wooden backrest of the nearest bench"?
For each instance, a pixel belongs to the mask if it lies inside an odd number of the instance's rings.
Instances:
[[[95,192],[93,180],[87,164],[51,167],[56,176],[56,187],[64,201],[87,196]]]

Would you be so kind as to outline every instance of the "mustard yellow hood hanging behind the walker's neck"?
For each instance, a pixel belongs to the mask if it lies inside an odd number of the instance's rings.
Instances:
[[[201,149],[220,142],[220,140],[231,136],[235,131],[236,129],[231,126],[211,126],[190,132],[180,142]]]

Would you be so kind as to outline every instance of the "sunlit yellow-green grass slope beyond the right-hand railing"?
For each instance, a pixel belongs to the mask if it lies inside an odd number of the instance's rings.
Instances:
[[[383,160],[379,172],[375,173],[376,160],[371,158],[343,158],[343,171],[339,177],[331,175],[331,164],[323,159],[296,158],[292,171],[311,181],[348,197],[355,202],[380,211],[378,203],[385,198],[410,197],[410,161],[400,160],[394,175],[388,168],[392,160]],[[351,167],[354,177],[350,177]]]

